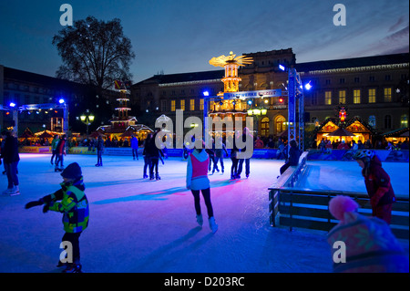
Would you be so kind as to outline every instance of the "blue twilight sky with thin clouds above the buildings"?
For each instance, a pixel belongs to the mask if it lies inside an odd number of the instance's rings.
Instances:
[[[208,61],[230,51],[292,47],[298,63],[409,51],[407,0],[0,0],[0,64],[54,77],[61,59],[51,41],[65,3],[74,20],[121,19],[134,82],[218,69]],[[346,26],[333,25],[338,3]]]

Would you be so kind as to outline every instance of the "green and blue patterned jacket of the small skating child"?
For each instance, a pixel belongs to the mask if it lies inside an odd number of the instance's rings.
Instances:
[[[67,233],[83,232],[88,226],[89,219],[83,178],[75,182],[62,182],[60,185],[60,190],[45,196],[43,200],[49,202],[49,210],[63,213],[63,225]]]

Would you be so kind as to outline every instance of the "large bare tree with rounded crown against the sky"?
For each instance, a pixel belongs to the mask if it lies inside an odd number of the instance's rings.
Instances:
[[[74,22],[53,37],[63,65],[57,78],[96,86],[100,91],[115,79],[130,80],[129,64],[135,57],[118,18],[99,21],[94,16]]]

